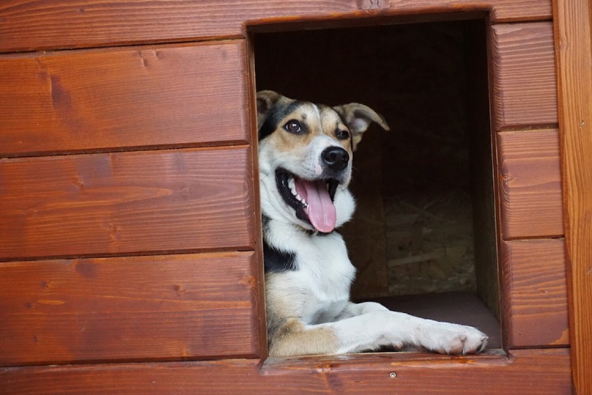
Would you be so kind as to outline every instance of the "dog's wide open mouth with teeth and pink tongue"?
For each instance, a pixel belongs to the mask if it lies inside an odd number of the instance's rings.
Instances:
[[[295,209],[299,220],[319,232],[333,232],[337,221],[333,204],[339,185],[336,179],[302,179],[285,169],[276,170],[275,179],[281,198]]]

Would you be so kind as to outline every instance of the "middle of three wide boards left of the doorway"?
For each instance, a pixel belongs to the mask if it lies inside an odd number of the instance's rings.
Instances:
[[[249,147],[0,161],[0,259],[252,249]]]

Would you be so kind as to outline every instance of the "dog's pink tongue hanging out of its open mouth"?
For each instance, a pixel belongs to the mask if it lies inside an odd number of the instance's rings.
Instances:
[[[333,232],[336,223],[336,212],[327,191],[327,183],[324,181],[296,179],[295,184],[296,191],[309,204],[305,211],[313,227],[319,232]]]

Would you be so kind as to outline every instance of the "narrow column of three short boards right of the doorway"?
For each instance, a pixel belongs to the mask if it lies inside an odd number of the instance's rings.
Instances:
[[[491,29],[504,344],[569,344],[551,22]]]

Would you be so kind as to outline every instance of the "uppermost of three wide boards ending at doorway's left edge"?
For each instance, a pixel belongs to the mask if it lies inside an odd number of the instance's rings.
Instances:
[[[248,142],[245,56],[242,41],[0,56],[0,156]]]

